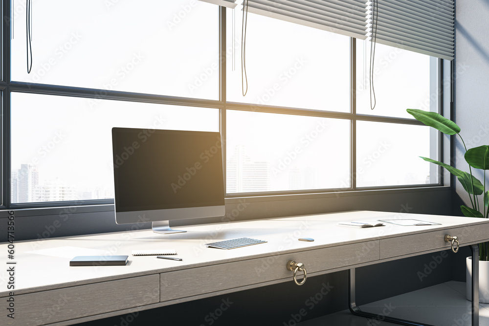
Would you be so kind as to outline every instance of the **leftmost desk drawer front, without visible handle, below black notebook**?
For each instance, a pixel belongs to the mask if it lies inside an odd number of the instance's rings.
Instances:
[[[7,325],[45,325],[109,311],[154,304],[159,277],[147,275],[15,296],[15,319]]]

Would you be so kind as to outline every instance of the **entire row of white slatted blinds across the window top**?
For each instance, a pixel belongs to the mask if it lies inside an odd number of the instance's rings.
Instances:
[[[234,8],[235,0],[201,0]],[[454,56],[453,0],[244,0],[248,12],[403,48]],[[374,14],[377,17],[374,17]],[[374,20],[375,18],[375,20]],[[372,35],[377,22],[376,34]]]

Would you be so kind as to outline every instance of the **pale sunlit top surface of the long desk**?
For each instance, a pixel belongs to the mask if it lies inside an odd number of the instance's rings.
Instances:
[[[442,225],[399,226],[387,224],[376,228],[340,227],[336,223],[352,220],[377,220],[388,218],[417,218]],[[16,286],[15,293],[22,294],[46,289],[66,287],[120,278],[176,271],[224,262],[277,255],[339,246],[365,240],[388,239],[434,230],[474,224],[487,224],[489,220],[469,217],[448,217],[434,215],[413,215],[356,211],[299,217],[268,218],[221,224],[186,226],[186,233],[161,235],[151,230],[116,232],[86,236],[62,237],[45,240],[28,240],[15,243]],[[205,243],[250,237],[268,241],[267,243],[222,250],[207,248]],[[313,238],[313,242],[298,241],[299,238]],[[459,235],[459,238],[461,236]],[[488,235],[489,238],[489,235]],[[479,240],[479,239],[477,239]],[[461,244],[469,244],[463,242]],[[472,241],[473,242],[473,241]],[[72,248],[67,254],[63,247]],[[448,244],[446,247],[448,248]],[[83,248],[87,249],[84,254]],[[176,257],[183,261],[156,259],[155,256],[131,256],[132,250],[175,249]],[[51,250],[47,250],[51,249]],[[127,266],[69,266],[70,256],[92,255],[92,250],[102,250],[108,255],[128,255]],[[7,252],[7,244],[0,245],[0,252]],[[100,252],[102,253],[102,252]],[[61,256],[61,257],[57,257]],[[3,258],[2,258],[3,260]],[[34,272],[35,271],[35,272]],[[0,297],[8,295],[6,270],[2,268],[0,277]]]

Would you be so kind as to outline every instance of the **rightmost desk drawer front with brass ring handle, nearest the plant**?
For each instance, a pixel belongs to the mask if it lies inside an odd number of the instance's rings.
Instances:
[[[460,245],[489,238],[489,224],[471,225],[441,231],[431,231],[380,240],[380,259],[422,253],[429,250],[450,249],[445,235],[457,236]]]

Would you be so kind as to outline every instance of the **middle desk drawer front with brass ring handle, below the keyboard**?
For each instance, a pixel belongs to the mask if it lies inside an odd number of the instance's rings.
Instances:
[[[290,260],[302,262],[308,273],[314,273],[376,261],[378,251],[378,240],[374,240],[161,273],[160,300],[165,302],[282,279],[293,282],[292,272],[286,269]]]

